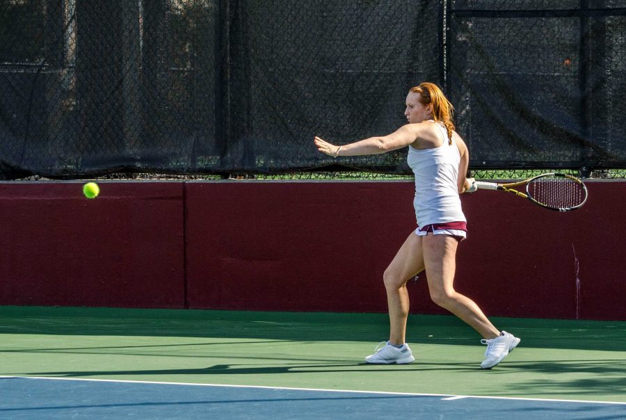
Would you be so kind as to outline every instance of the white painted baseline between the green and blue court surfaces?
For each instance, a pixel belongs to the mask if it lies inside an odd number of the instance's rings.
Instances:
[[[618,401],[588,401],[588,400],[559,400],[550,398],[524,398],[509,396],[484,396],[484,395],[450,395],[450,394],[420,394],[417,392],[389,392],[389,391],[357,391],[353,389],[323,389],[323,388],[294,388],[294,387],[268,387],[263,385],[224,385],[224,384],[195,384],[190,382],[157,382],[149,380],[119,380],[119,379],[90,379],[90,378],[52,378],[49,376],[10,376],[0,375],[1,378],[17,378],[17,379],[43,379],[43,380],[77,380],[86,382],[119,382],[127,384],[150,384],[150,385],[185,385],[193,387],[223,387],[223,388],[253,388],[253,389],[285,389],[287,391],[319,391],[319,392],[351,392],[353,394],[379,394],[379,395],[403,395],[403,396],[442,396],[447,400],[460,398],[481,398],[495,400],[514,400],[514,401],[546,401],[548,403],[585,403],[585,404],[611,404],[626,405],[626,402]]]

